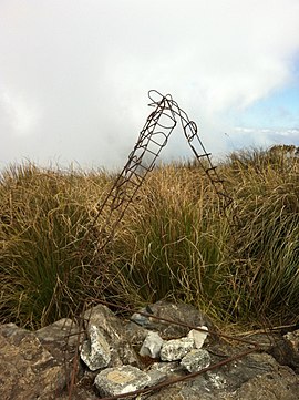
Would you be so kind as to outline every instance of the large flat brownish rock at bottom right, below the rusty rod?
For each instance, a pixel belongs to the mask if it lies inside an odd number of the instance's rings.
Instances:
[[[150,400],[298,400],[299,377],[278,366],[266,353],[254,353],[239,361],[174,383],[152,393]]]

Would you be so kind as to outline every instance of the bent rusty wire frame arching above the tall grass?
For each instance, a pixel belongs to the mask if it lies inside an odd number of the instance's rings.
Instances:
[[[210,160],[203,142],[199,139],[197,125],[190,121],[169,94],[163,95],[156,90],[148,92],[150,106],[154,111],[146,120],[138,140],[128,155],[127,163],[111,187],[105,199],[101,204],[94,223],[104,214],[104,223],[100,232],[99,250],[102,249],[113,238],[117,224],[138,188],[143,184],[146,175],[155,167],[157,157],[167,145],[168,139],[178,122],[181,122],[184,135],[193,151],[198,165],[208,176],[221,204],[221,209],[231,204],[233,198],[228,195],[224,181],[219,177],[216,167]]]

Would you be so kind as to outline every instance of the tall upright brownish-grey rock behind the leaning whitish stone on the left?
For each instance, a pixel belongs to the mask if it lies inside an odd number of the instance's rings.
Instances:
[[[125,324],[105,306],[97,305],[84,312],[87,324],[87,336],[90,327],[97,327],[104,335],[111,348],[111,361],[109,367],[121,367],[122,365],[140,366],[140,360],[127,339]]]

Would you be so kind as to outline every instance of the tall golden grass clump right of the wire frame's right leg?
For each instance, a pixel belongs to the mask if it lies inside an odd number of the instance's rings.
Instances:
[[[251,319],[298,320],[299,160],[288,147],[246,151],[225,172],[238,205],[243,310]]]

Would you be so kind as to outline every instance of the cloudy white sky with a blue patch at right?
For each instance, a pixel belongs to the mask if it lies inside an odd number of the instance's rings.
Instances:
[[[298,0],[0,0],[0,168],[120,167],[171,93],[215,155],[299,145]],[[178,130],[167,160],[190,154]]]

